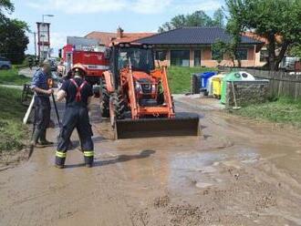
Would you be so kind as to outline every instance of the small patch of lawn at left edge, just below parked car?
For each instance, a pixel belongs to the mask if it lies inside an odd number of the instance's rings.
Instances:
[[[18,67],[9,70],[0,70],[0,84],[3,85],[23,85],[30,81],[30,78],[18,75]]]

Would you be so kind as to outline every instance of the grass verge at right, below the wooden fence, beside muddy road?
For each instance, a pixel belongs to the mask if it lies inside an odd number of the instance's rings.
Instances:
[[[301,128],[301,99],[294,100],[282,97],[232,112],[248,118],[267,119],[276,123],[285,123]]]

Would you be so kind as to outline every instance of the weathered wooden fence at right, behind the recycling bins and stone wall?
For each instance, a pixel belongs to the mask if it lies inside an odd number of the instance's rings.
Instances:
[[[228,68],[231,69],[231,68]],[[301,73],[284,71],[265,71],[249,68],[237,68],[252,74],[256,78],[268,79],[269,94],[272,97],[301,98]]]

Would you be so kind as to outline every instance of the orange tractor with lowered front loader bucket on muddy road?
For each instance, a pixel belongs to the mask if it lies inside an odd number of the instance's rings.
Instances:
[[[155,69],[152,46],[113,43],[105,56],[110,69],[100,81],[100,109],[117,139],[199,134],[198,116],[175,113],[166,68]]]

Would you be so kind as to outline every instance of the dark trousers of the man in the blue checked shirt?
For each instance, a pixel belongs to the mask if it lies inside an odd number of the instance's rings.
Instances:
[[[35,124],[36,131],[34,139],[42,138],[46,134],[46,129],[50,122],[51,105],[50,100],[46,96],[35,96]]]

